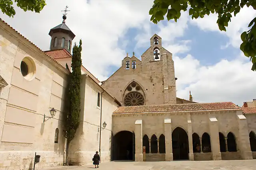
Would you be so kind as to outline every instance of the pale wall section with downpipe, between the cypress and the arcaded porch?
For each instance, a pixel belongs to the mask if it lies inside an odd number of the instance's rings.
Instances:
[[[91,164],[92,157],[99,151],[100,107],[97,106],[98,92],[103,89],[90,76],[82,76],[81,122],[76,137],[70,144],[70,162],[74,165]],[[107,126],[101,131],[101,162],[110,161],[112,112],[118,105],[107,93],[102,93],[102,123]]]

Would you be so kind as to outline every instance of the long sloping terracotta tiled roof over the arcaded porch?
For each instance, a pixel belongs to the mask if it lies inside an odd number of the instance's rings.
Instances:
[[[201,111],[201,110],[223,110],[240,109],[232,102],[218,103],[196,103],[196,104],[172,104],[153,106],[122,106],[113,113],[154,113],[154,112],[178,112],[178,111]]]

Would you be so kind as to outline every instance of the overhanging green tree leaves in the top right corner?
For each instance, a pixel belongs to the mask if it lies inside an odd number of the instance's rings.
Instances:
[[[181,11],[186,11],[190,5],[188,11],[192,19],[198,17],[204,18],[205,15],[210,13],[218,14],[218,26],[221,31],[226,31],[228,23],[231,21],[232,14],[236,16],[240,12],[240,9],[245,5],[247,7],[252,6],[256,9],[256,0],[154,0],[154,5],[149,11],[152,16],[151,21],[158,23],[160,20],[164,20],[166,15],[167,20],[177,20],[180,18]],[[241,35],[243,43],[240,45],[240,49],[244,52],[246,57],[250,57],[252,61],[252,70],[256,70],[256,18],[254,18],[248,25],[249,30],[244,31]]]

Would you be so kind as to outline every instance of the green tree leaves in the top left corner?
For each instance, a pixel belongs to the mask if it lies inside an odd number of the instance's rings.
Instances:
[[[14,2],[25,12],[29,10],[40,13],[44,6],[46,6],[45,0],[14,0]],[[13,17],[16,14],[13,8],[13,0],[0,0],[0,9],[9,17]]]

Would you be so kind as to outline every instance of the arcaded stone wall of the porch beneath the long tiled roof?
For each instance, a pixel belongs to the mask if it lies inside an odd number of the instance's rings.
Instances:
[[[249,136],[244,131],[238,129],[238,125],[245,126],[244,121],[238,117],[241,111],[200,111],[200,112],[176,112],[176,113],[144,113],[144,114],[114,114],[112,131],[115,135],[120,131],[133,132],[135,129],[135,121],[142,120],[142,136],[147,135],[150,139],[152,135],[156,135],[159,139],[161,134],[167,135],[164,128],[164,120],[171,120],[171,131],[176,127],[184,129],[188,135],[189,152],[192,153],[192,134],[197,133],[200,138],[204,133],[210,135],[210,143],[212,152],[210,153],[194,153],[194,160],[216,160],[221,159],[223,155],[225,160],[240,159],[242,154],[248,154],[246,159],[250,158],[250,153],[247,153],[248,146],[243,146],[242,143],[248,143]],[[123,121],[125,119],[125,121]],[[190,129],[191,122],[191,129]],[[237,122],[237,123],[234,123]],[[222,132],[227,137],[229,132],[232,132],[236,137],[236,146],[238,152],[220,153],[218,132]],[[242,135],[241,135],[242,134]],[[191,135],[191,136],[190,136]],[[136,133],[135,133],[136,136]],[[241,138],[241,136],[245,138]],[[142,144],[136,144],[142,145]],[[169,153],[170,150],[166,150]],[[192,160],[192,154],[190,154]]]

